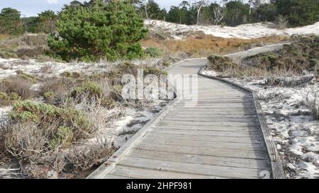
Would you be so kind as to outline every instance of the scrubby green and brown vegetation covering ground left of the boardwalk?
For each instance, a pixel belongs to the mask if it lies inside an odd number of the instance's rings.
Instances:
[[[121,77],[136,76],[140,68],[145,75],[165,74],[157,67],[121,63],[93,74],[66,71],[39,78],[17,71],[16,76],[1,80],[0,105],[12,107],[0,126],[1,159],[18,160],[21,172],[30,178],[85,177],[116,148],[111,141],[79,144],[112,127],[121,112],[109,110],[147,104],[121,96]]]

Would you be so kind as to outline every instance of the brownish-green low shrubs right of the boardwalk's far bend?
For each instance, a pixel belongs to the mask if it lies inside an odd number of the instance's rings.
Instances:
[[[220,72],[220,76],[235,77],[283,77],[302,75],[305,71],[318,76],[318,36],[293,36],[291,42],[278,52],[247,57],[242,60],[243,65],[236,64],[227,57],[212,55],[208,57],[208,69]]]

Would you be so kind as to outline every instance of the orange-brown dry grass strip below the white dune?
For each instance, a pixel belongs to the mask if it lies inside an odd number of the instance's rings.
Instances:
[[[251,40],[237,38],[214,37],[201,35],[200,37],[187,37],[186,40],[155,40],[147,38],[142,40],[143,47],[158,47],[166,52],[185,52],[189,57],[207,57],[211,54],[230,54],[286,40],[284,36],[261,37]]]

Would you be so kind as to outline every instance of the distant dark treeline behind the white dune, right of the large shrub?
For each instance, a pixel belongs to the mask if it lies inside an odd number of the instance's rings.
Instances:
[[[165,20],[186,25],[228,25],[276,21],[284,16],[289,26],[310,25],[319,21],[318,0],[272,0],[262,4],[261,0],[223,0],[220,4],[208,0],[181,1],[169,11],[159,8],[154,0],[135,0],[143,18]]]

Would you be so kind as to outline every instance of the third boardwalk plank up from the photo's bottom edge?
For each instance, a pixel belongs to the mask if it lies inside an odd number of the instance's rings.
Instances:
[[[128,153],[128,156],[135,158],[147,158],[152,160],[168,160],[177,163],[197,163],[204,165],[228,166],[234,168],[255,168],[260,170],[269,170],[271,168],[270,163],[267,162],[267,160],[223,158],[163,151],[145,151],[132,149],[130,153]]]

